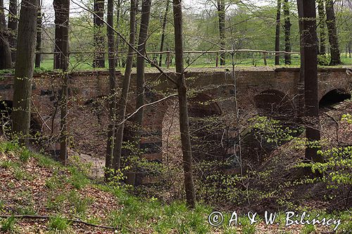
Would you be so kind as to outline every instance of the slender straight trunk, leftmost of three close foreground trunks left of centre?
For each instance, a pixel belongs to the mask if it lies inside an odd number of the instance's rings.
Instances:
[[[116,109],[116,75],[115,75],[115,37],[113,32],[113,0],[108,0],[108,65],[109,65],[109,126],[108,126],[108,143],[106,145],[105,167],[111,168],[111,159],[113,157],[114,133],[115,133],[115,109]],[[106,179],[110,176],[106,173]]]

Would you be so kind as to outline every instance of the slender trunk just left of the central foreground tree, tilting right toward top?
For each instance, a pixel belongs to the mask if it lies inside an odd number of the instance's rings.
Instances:
[[[148,37],[148,27],[149,27],[149,18],[151,13],[151,0],[142,1],[142,20],[141,26],[139,27],[139,39],[138,39],[138,51],[142,55],[146,54],[146,39]],[[137,56],[137,104],[136,108],[142,107],[144,105],[144,58],[140,55]],[[143,115],[144,108],[141,108],[136,114],[136,122],[139,126],[139,134],[137,138],[142,136],[142,124],[143,124]]]

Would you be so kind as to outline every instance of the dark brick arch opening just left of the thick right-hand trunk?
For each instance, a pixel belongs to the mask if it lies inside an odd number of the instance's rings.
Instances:
[[[287,93],[275,89],[262,91],[254,97],[259,115],[295,115],[296,105]]]

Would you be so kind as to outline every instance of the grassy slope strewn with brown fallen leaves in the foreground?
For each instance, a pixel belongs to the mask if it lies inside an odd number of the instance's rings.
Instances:
[[[16,176],[16,170],[25,176]],[[30,174],[29,171],[32,171]],[[32,180],[28,175],[35,175]],[[1,179],[2,178],[2,179]],[[4,178],[11,183],[4,183]],[[43,221],[0,219],[4,233],[92,233],[93,228],[77,226],[70,219],[81,219],[96,225],[118,227],[119,233],[314,233],[316,230],[332,230],[320,226],[284,226],[285,214],[277,215],[279,225],[265,225],[263,214],[257,222],[251,223],[248,216],[239,216],[241,225],[229,226],[232,212],[223,212],[224,220],[218,227],[210,226],[208,215],[211,207],[197,204],[190,210],[184,202],[163,204],[151,197],[136,197],[123,187],[108,186],[90,181],[77,167],[63,167],[44,155],[39,155],[19,145],[0,142],[0,214],[49,215]],[[8,193],[8,191],[15,193]],[[12,194],[12,195],[8,195]],[[321,217],[341,219],[338,233],[352,230],[349,212],[325,214],[323,211],[309,211]],[[94,229],[96,230],[96,229]],[[99,229],[101,233],[113,233]]]

